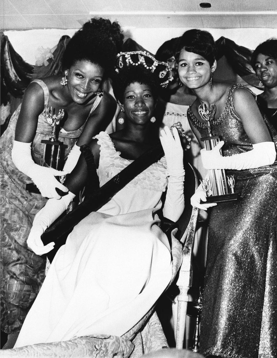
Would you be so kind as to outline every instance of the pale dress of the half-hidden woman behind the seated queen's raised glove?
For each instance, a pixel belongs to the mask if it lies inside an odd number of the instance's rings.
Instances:
[[[202,179],[205,177],[206,170],[203,168],[201,161],[201,147],[188,122],[186,115],[188,108],[189,106],[167,102],[164,117],[162,118],[162,127],[168,126],[170,128],[177,122],[181,123],[185,133],[191,138],[190,149],[186,151],[187,159],[189,163],[196,169],[199,179]]]

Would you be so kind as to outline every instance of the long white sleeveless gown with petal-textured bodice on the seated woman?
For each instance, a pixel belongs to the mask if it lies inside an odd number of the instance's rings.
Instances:
[[[110,136],[100,147],[100,186],[132,160]],[[94,334],[122,336],[154,305],[172,277],[156,211],[167,184],[162,157],[69,234],[54,257],[14,348]]]

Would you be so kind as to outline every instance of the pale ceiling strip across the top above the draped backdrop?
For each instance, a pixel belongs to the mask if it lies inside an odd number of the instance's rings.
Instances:
[[[77,29],[93,16],[123,28],[277,28],[276,0],[206,1],[211,8],[201,0],[1,0],[0,28]]]

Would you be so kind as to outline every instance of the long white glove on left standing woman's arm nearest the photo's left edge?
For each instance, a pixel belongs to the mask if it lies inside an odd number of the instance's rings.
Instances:
[[[59,199],[60,195],[55,188],[59,188],[65,193],[68,191],[68,188],[55,178],[55,176],[62,176],[67,172],[35,164],[31,156],[31,143],[15,140],[11,158],[16,168],[33,180],[43,197]]]

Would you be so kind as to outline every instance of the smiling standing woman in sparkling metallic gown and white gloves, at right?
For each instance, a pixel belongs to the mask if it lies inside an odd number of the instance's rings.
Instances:
[[[213,134],[223,140],[212,151],[201,150],[206,169],[226,169],[236,179],[241,199],[212,208],[203,295],[200,350],[221,357],[274,357],[276,312],[276,149],[272,129],[247,87],[215,83],[212,35],[189,30],[180,40],[179,77],[196,100],[188,119],[196,137],[208,135],[199,105],[216,106]],[[203,144],[202,144],[203,145]],[[224,145],[224,146],[223,146]],[[219,151],[222,147],[224,156]],[[191,198],[200,204],[206,193]]]

